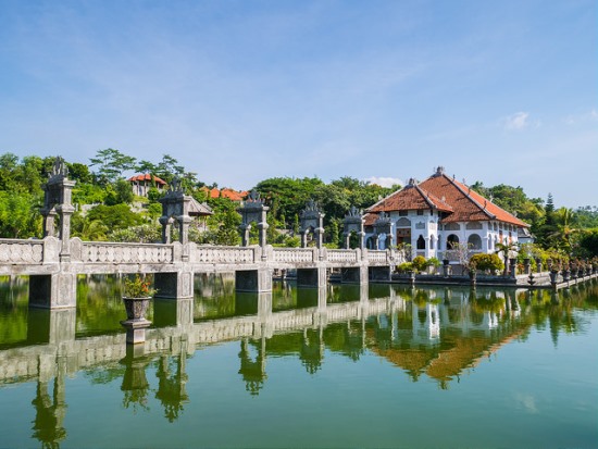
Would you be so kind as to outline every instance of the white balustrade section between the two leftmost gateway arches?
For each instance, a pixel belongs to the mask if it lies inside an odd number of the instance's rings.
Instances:
[[[84,241],[80,249],[83,263],[173,263],[170,245],[114,244]]]

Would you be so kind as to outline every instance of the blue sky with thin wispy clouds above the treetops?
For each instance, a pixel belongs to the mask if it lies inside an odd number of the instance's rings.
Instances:
[[[598,204],[595,0],[0,0],[0,153]],[[94,170],[94,167],[91,167]]]

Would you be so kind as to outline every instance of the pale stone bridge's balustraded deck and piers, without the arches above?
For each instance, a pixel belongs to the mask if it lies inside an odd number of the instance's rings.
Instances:
[[[153,273],[157,297],[194,296],[196,273],[236,273],[239,291],[270,291],[275,270],[296,270],[299,286],[326,285],[327,272],[338,270],[346,283],[388,280],[395,253],[390,250],[198,246],[180,244],[117,244],[70,239],[68,258],[61,259],[63,241],[0,239],[0,275],[29,276],[29,304],[42,308],[76,305],[79,274]]]

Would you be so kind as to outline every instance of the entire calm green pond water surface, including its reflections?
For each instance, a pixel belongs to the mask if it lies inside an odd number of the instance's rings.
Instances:
[[[82,278],[76,311],[29,310],[26,278],[0,279],[0,448],[598,447],[597,283],[270,297],[197,276],[135,351],[120,295]]]

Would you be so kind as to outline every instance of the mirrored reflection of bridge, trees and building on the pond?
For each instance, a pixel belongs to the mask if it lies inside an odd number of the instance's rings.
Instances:
[[[197,400],[187,392],[189,376],[202,375],[187,373],[187,360],[219,341],[238,341],[236,375],[251,396],[269,386],[269,358],[296,358],[304,374],[315,376],[333,353],[356,363],[375,354],[397,367],[397,375],[432,379],[447,389],[502,346],[524,340],[532,328],[548,329],[557,346],[562,334],[587,327],[577,310],[598,309],[596,283],[558,292],[391,285],[297,289],[281,283],[258,295],[229,287],[222,278],[212,286],[212,298],[154,301],[147,341],[132,347],[122,332],[103,323],[117,323],[123,314],[122,304],[117,314],[110,308],[105,313],[111,301],[102,297],[105,289],[89,286],[89,298],[76,311],[49,311],[23,307],[21,284],[2,285],[0,387],[36,381],[33,437],[43,447],[59,447],[66,438],[64,379],[79,371],[91,383],[117,384],[123,409],[151,413],[155,401],[174,423]],[[95,330],[79,338],[80,327]],[[96,335],[102,328],[108,330]]]

